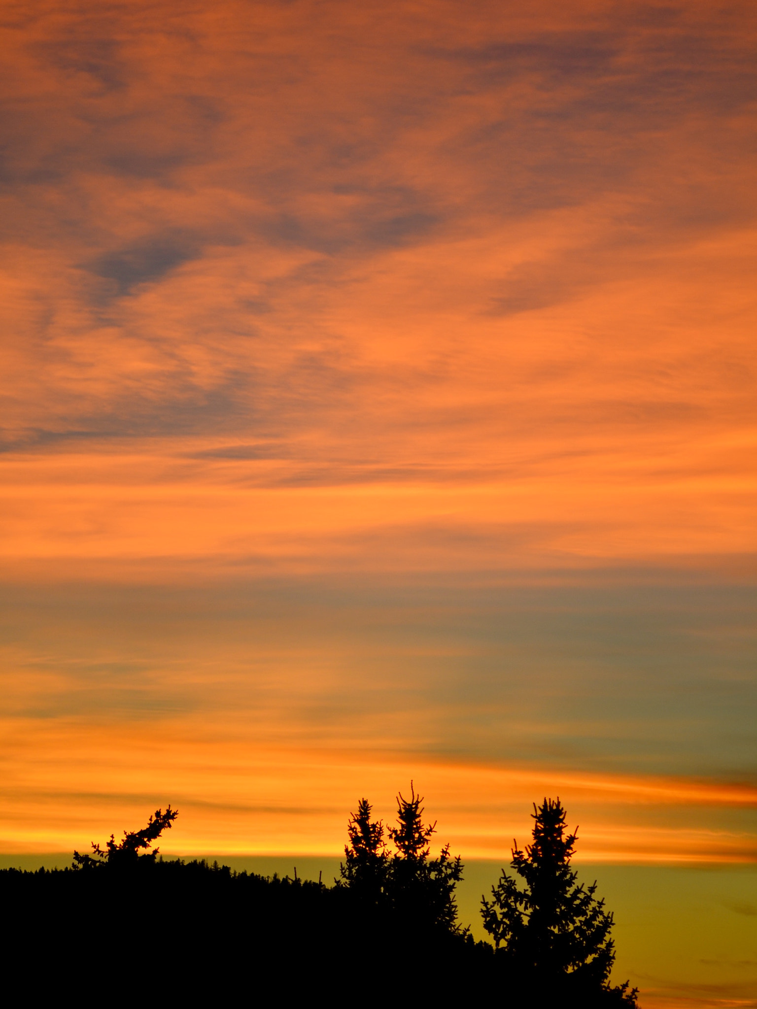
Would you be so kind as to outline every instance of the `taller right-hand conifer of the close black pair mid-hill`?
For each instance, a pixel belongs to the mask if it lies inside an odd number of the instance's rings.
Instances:
[[[389,828],[397,849],[389,864],[388,891],[393,908],[401,920],[415,922],[421,928],[444,929],[465,934],[457,922],[454,899],[455,885],[462,879],[459,855],[452,858],[449,845],[438,858],[431,858],[431,836],[436,823],[423,822],[423,797],[415,794],[410,783],[411,797],[397,796],[398,826]]]

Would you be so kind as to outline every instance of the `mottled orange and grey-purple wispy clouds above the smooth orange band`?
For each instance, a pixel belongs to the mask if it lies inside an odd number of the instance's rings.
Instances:
[[[420,428],[428,455],[493,418],[593,438],[603,407],[626,440],[619,401],[634,433],[648,404],[676,437],[676,410],[722,423],[747,12],[440,11],[7,17],[11,443],[211,426],[331,458],[346,429],[395,457]]]

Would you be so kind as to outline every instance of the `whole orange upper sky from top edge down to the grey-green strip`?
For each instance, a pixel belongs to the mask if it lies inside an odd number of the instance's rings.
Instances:
[[[754,13],[552,6],[6,5],[14,572],[754,555]]]

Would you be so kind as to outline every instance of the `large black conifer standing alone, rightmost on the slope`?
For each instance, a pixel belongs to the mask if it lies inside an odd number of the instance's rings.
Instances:
[[[604,992],[619,1005],[636,1005],[636,989],[610,988],[613,915],[596,898],[597,883],[576,882],[570,859],[577,832],[567,832],[565,818],[559,799],[534,805],[533,843],[525,852],[516,843],[511,862],[525,888],[503,870],[493,899],[482,898],[483,927],[498,949],[504,947],[510,969],[538,979],[542,988],[559,988],[568,980],[576,994]]]

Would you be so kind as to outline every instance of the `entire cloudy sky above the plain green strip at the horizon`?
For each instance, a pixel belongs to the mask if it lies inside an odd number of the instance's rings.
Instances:
[[[3,0],[3,852],[757,863],[756,39]]]

